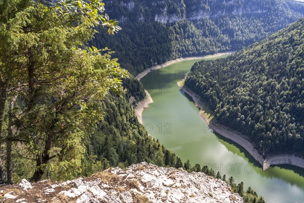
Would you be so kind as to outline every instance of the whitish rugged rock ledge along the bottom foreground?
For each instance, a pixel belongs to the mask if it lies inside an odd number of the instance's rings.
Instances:
[[[109,168],[90,178],[41,181],[31,187],[16,190],[14,186],[10,191],[7,186],[2,193],[8,193],[7,202],[243,202],[222,180],[146,162],[131,165],[126,171]]]

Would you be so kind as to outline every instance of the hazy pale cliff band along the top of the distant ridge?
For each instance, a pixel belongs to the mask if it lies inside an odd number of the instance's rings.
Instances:
[[[203,17],[216,18],[229,15],[245,15],[270,13],[275,10],[290,9],[301,13],[303,5],[287,1],[240,1],[240,0],[105,0],[106,11],[112,18],[120,23],[130,19],[136,21],[157,21],[161,23],[174,23],[182,19],[192,21]]]

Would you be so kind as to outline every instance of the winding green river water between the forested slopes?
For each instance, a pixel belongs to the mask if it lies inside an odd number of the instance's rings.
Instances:
[[[143,112],[146,130],[182,161],[212,166],[215,173],[233,176],[251,186],[267,202],[304,202],[304,170],[278,165],[262,171],[244,148],[212,132],[193,100],[177,86],[195,61],[182,61],[153,71],[141,79],[153,98]]]

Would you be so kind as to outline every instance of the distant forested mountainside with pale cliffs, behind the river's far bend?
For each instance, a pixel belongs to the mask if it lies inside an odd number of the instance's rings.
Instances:
[[[91,44],[116,51],[130,73],[181,56],[240,50],[303,16],[296,1],[104,1],[120,22],[114,36],[100,31]],[[102,28],[98,28],[102,29]]]

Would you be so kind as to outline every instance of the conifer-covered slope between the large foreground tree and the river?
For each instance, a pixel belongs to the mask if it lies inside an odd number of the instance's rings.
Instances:
[[[176,155],[148,136],[125,96],[109,94],[101,102],[101,109],[103,119],[84,141],[88,156],[96,156],[97,161],[106,159],[111,166],[124,164],[126,167],[142,161],[175,166]]]

